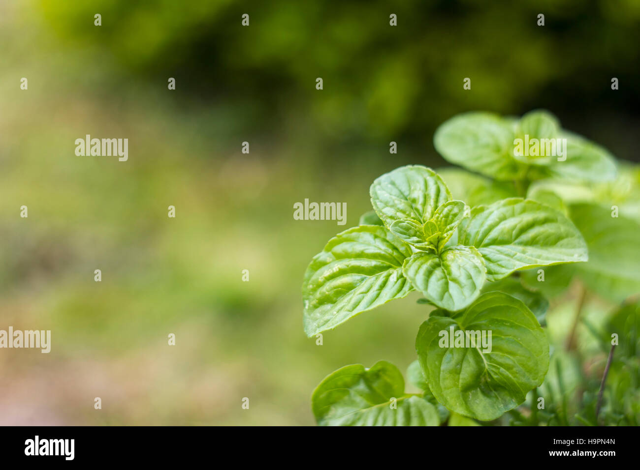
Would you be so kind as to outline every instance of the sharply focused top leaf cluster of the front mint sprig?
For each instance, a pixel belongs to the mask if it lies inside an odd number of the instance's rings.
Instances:
[[[371,185],[383,226],[346,230],[305,273],[308,336],[419,289],[449,311],[467,307],[486,280],[517,269],[587,259],[579,231],[559,211],[511,198],[470,211],[434,171],[405,166]],[[376,221],[371,214],[366,216]]]

